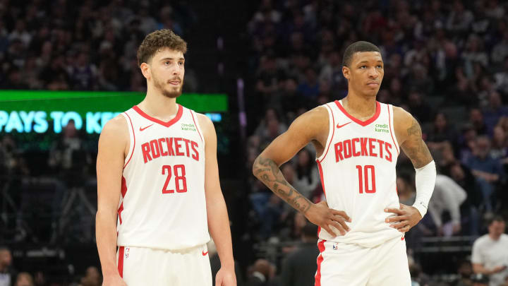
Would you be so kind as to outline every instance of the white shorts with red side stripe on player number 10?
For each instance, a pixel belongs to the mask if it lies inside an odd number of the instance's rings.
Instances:
[[[404,237],[365,248],[320,239],[315,286],[410,286]]]

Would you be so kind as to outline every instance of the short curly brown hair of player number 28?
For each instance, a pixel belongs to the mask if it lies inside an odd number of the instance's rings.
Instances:
[[[151,32],[138,47],[138,66],[150,61],[156,52],[164,48],[185,54],[187,52],[187,42],[169,29]]]

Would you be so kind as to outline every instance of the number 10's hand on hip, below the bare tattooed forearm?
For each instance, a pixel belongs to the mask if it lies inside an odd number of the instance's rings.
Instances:
[[[311,205],[306,212],[306,218],[334,237],[349,232],[346,222],[351,222],[351,218],[343,210],[328,208],[326,201]]]

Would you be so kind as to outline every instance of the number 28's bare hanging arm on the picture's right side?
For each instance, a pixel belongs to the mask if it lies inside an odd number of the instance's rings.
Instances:
[[[229,218],[219,183],[219,166],[217,165],[217,134],[212,121],[205,115],[198,114],[198,122],[205,140],[205,196],[207,205],[208,230],[212,235],[221,268],[215,276],[217,286],[235,286],[233,247]]]

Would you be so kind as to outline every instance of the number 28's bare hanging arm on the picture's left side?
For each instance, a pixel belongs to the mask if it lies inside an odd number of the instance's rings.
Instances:
[[[126,286],[116,266],[116,214],[121,193],[123,164],[128,148],[127,122],[119,115],[104,126],[97,153],[95,232],[104,277],[103,286]]]

